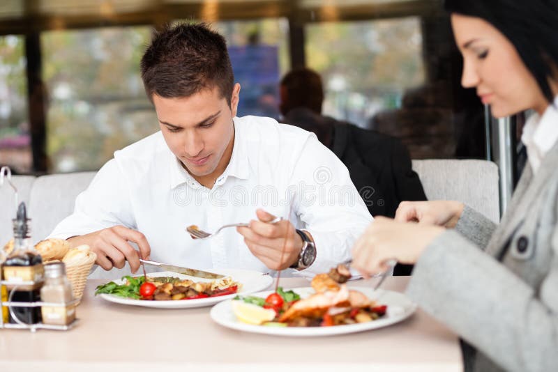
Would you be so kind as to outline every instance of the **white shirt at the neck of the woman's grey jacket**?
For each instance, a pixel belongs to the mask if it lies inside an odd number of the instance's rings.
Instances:
[[[554,105],[550,104],[543,116],[533,114],[523,127],[521,141],[527,148],[527,159],[529,159],[533,173],[538,171],[546,153],[558,140],[557,107],[558,96],[554,100]]]

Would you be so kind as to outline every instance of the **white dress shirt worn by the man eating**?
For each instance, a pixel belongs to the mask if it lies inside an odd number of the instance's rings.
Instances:
[[[347,260],[372,217],[345,165],[299,127],[244,116],[234,118],[234,128],[231,160],[213,188],[197,183],[157,132],[116,151],[51,237],[123,225],[144,233],[154,261],[269,272],[235,228],[208,240],[193,240],[185,231],[192,224],[213,232],[249,222],[263,208],[312,234],[317,258],[303,274]]]

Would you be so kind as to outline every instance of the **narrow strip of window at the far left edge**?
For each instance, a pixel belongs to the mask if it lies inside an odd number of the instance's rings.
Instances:
[[[0,36],[0,165],[32,170],[23,36]]]

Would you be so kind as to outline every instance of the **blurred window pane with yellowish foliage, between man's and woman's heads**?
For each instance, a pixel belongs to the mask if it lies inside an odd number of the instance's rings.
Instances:
[[[306,35],[307,64],[322,75],[326,115],[368,127],[372,116],[400,108],[405,91],[424,82],[418,17],[310,24]]]

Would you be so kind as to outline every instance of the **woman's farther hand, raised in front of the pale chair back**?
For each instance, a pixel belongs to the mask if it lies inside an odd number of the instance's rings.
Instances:
[[[465,204],[460,201],[402,201],[395,212],[395,221],[454,228]]]

